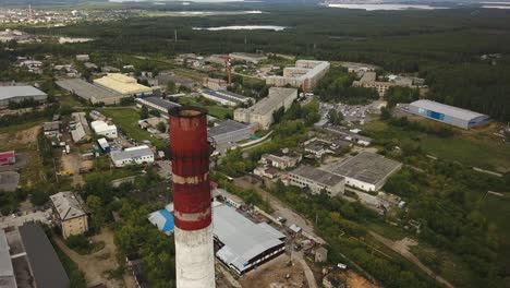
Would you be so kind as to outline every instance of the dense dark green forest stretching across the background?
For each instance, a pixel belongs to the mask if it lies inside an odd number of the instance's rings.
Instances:
[[[234,5],[239,9],[239,4]],[[247,7],[246,7],[247,8]],[[134,17],[32,28],[44,35],[94,37],[76,45],[34,44],[13,53],[99,52],[170,58],[181,52],[281,52],[375,63],[418,73],[429,97],[510,120],[510,17],[499,10],[356,11],[318,7],[263,7],[262,14],[208,17]],[[281,32],[196,31],[222,25],[281,25]],[[178,41],[173,40],[174,31]],[[245,41],[246,39],[246,41]],[[499,53],[488,61],[481,56]]]

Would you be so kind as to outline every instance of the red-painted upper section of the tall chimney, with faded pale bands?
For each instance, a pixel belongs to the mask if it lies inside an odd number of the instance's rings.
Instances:
[[[171,110],[169,131],[175,227],[206,228],[211,224],[207,116],[195,107]]]

